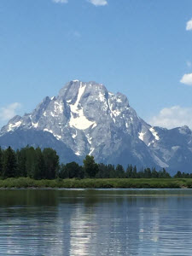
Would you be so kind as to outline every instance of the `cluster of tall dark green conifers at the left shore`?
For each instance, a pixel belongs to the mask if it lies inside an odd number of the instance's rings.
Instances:
[[[58,171],[59,156],[52,148],[0,148],[0,177],[54,179]]]

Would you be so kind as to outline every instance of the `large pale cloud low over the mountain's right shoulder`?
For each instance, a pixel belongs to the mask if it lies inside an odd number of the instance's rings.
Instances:
[[[163,108],[160,113],[148,120],[150,125],[172,129],[188,125],[192,129],[192,108],[173,106]]]

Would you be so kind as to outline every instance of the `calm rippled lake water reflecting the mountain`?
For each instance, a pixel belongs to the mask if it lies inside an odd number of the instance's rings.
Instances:
[[[192,255],[192,190],[0,190],[0,255]]]

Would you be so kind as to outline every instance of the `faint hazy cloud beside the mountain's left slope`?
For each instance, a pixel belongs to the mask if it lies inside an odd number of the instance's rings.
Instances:
[[[19,102],[14,102],[6,107],[0,108],[0,120],[8,121],[12,119],[20,110],[21,104]]]

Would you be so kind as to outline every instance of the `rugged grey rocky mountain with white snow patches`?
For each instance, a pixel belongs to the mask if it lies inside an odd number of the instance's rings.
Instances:
[[[15,116],[0,131],[7,148],[51,147],[61,161],[81,162],[86,154],[97,162],[165,167],[192,171],[192,132],[188,126],[167,130],[137,116],[121,93],[103,84],[73,80],[58,96],[44,98],[32,113]]]

